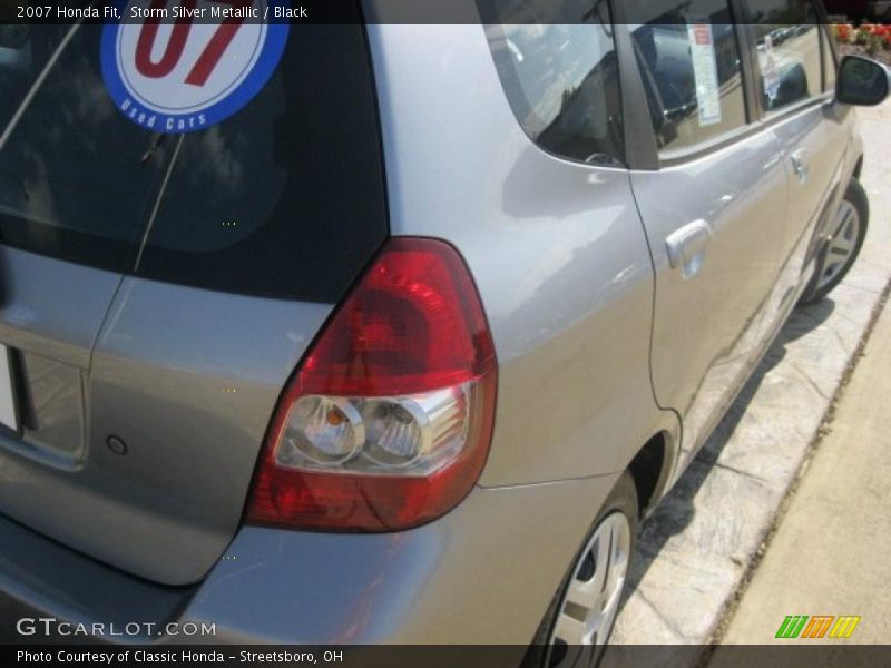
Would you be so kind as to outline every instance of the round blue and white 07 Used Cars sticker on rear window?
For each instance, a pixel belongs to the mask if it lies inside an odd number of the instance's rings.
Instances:
[[[102,78],[117,108],[147,130],[216,125],[266,85],[290,26],[267,23],[288,0],[118,0],[102,30]]]

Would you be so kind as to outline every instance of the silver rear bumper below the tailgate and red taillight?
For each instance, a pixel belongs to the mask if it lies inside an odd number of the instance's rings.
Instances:
[[[0,520],[0,639],[70,641],[41,627],[16,630],[23,616],[42,616],[159,629],[97,638],[111,642],[527,644],[616,479],[478,488],[447,517],[402,533],[246,527],[188,590],[131,578]],[[27,548],[9,549],[11,540]],[[203,631],[163,632],[170,622]]]

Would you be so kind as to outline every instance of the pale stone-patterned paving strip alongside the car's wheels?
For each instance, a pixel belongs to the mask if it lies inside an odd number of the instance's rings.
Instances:
[[[870,230],[858,265],[799,310],[644,524],[613,642],[707,645],[774,524],[891,282],[891,104],[860,111]]]

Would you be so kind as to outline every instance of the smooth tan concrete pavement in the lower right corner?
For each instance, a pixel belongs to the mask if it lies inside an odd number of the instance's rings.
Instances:
[[[787,615],[860,616],[846,642],[891,640],[889,370],[891,307],[873,330],[832,431],[791,499],[724,642],[789,644],[774,639]]]

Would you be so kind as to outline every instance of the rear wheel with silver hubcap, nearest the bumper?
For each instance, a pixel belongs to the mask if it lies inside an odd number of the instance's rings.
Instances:
[[[599,662],[625,593],[637,543],[638,513],[637,489],[626,471],[572,559],[525,666],[551,668]],[[603,584],[600,591],[598,582]]]

